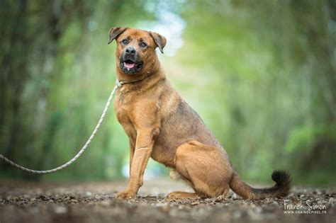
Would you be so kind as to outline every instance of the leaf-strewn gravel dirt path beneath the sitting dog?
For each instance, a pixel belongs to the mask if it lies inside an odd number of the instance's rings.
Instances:
[[[145,181],[134,200],[116,200],[124,187],[123,182],[0,181],[0,222],[336,222],[335,188],[293,188],[286,207],[296,205],[306,214],[285,214],[284,199],[246,201],[230,193],[228,198],[167,200],[173,190],[188,190],[167,179]]]

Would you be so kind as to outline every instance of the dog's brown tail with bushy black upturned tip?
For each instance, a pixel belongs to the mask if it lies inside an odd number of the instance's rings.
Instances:
[[[291,190],[291,176],[286,171],[273,171],[271,178],[275,185],[271,188],[252,188],[240,179],[237,173],[233,173],[230,188],[244,199],[258,200],[264,198],[285,197]]]

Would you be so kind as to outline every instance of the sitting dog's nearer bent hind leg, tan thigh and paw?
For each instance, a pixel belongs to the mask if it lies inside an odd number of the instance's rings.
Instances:
[[[169,175],[182,178],[196,193],[177,191],[170,193],[168,198],[213,198],[228,193],[233,170],[224,151],[190,141],[177,148],[175,160],[178,174],[174,170]]]

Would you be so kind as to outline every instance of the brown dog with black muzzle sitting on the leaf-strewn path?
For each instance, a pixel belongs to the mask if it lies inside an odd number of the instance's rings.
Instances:
[[[172,168],[195,193],[173,192],[168,198],[206,198],[226,195],[229,188],[245,199],[285,196],[291,178],[274,171],[272,188],[255,189],[244,183],[198,114],[166,79],[155,48],[163,52],[166,38],[133,28],[111,28],[109,42],[116,40],[116,74],[125,81],[116,93],[114,108],[130,144],[130,181],[117,195],[134,198],[150,157]]]

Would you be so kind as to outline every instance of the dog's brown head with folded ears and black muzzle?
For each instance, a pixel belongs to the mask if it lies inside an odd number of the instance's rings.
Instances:
[[[124,74],[151,72],[157,65],[156,47],[163,53],[166,38],[133,28],[111,28],[108,43],[117,42],[116,62]]]

